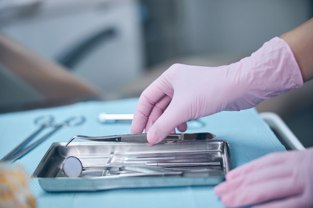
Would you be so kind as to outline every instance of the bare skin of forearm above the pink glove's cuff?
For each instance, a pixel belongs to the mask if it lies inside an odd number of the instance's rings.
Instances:
[[[313,18],[280,36],[290,46],[303,82],[313,78]]]

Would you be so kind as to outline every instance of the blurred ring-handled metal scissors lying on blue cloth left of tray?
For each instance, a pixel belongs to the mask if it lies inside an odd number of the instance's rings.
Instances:
[[[43,115],[34,120],[35,124],[40,125],[39,129],[37,129],[34,133],[32,133],[29,137],[27,137],[23,142],[21,142],[17,147],[15,147],[11,152],[6,154],[0,162],[14,162],[15,160],[23,157],[32,149],[37,147],[40,143],[46,140],[49,136],[55,133],[63,126],[77,126],[82,124],[85,121],[83,116],[72,116],[62,123],[56,123],[54,121],[54,117],[52,115]],[[52,130],[49,131],[47,134],[43,135],[37,141],[33,142],[29,146],[25,147],[36,135],[38,135],[43,129],[52,127]]]

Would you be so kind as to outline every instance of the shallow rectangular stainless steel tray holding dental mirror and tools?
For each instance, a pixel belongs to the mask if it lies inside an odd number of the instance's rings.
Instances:
[[[135,143],[73,142],[64,148],[65,144],[53,143],[32,175],[45,191],[216,185],[224,181],[226,173],[231,170],[229,145],[224,140],[161,143],[152,147]],[[220,162],[220,166],[207,167],[209,174],[206,177],[107,177],[105,171],[95,170],[83,172],[77,178],[68,178],[62,165],[70,156],[77,157],[83,166],[173,161]],[[214,172],[210,175],[212,169]]]

